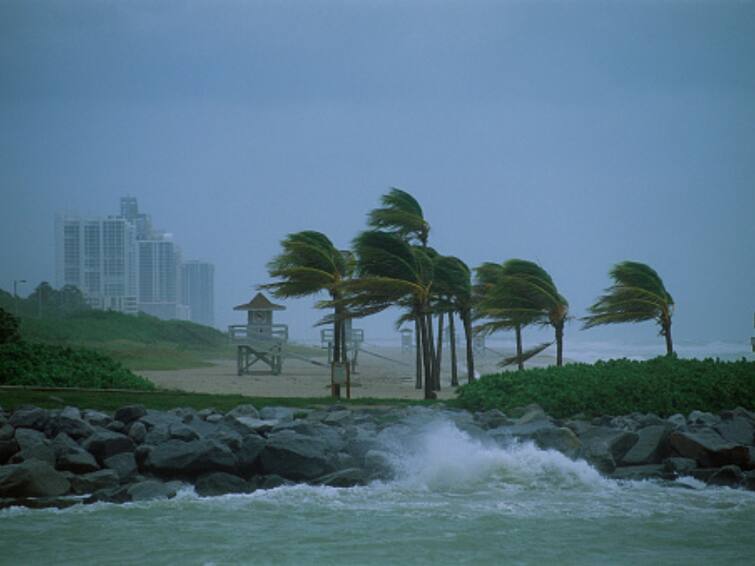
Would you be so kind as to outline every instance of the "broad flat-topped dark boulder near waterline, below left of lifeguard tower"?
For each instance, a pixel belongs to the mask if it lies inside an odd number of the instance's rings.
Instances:
[[[158,475],[180,477],[204,472],[232,472],[236,465],[236,457],[226,445],[208,439],[169,440],[152,449],[144,462],[146,469]]]

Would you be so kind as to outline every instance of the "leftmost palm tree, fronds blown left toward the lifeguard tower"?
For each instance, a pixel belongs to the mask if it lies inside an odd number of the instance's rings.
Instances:
[[[260,285],[279,298],[306,297],[326,291],[335,308],[333,320],[333,360],[346,361],[343,348],[343,319],[339,300],[341,285],[349,276],[349,257],[336,249],[320,232],[307,230],[289,234],[281,242],[283,251],[268,263],[270,277],[280,281]]]

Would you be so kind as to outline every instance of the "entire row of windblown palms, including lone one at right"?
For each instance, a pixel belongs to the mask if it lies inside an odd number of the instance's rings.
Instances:
[[[393,188],[368,215],[368,229],[350,251],[335,247],[320,232],[289,234],[282,252],[269,264],[273,283],[262,285],[279,298],[326,292],[318,303],[330,314],[321,324],[334,326],[334,361],[346,362],[344,321],[362,318],[398,306],[403,314],[397,326],[414,325],[417,340],[416,386],[426,399],[440,390],[443,331],[448,319],[451,384],[458,385],[456,323],[462,323],[466,342],[467,379],[474,380],[474,333],[513,330],[516,355],[500,365],[517,363],[553,342],[525,350],[522,331],[527,326],[553,327],[556,364],[563,364],[564,325],[569,303],[551,276],[531,261],[511,259],[483,263],[472,272],[459,258],[441,255],[429,245],[430,224],[422,207],[409,193]],[[585,328],[601,324],[656,320],[673,353],[671,315],[673,300],[658,274],[647,265],[622,262],[610,272],[614,285],[590,307]],[[476,326],[473,328],[473,322]],[[434,331],[437,323],[437,333]]]

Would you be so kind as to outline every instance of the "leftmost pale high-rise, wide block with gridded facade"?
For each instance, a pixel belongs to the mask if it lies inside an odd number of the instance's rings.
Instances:
[[[55,219],[55,279],[75,285],[93,308],[135,313],[133,225],[124,218]]]

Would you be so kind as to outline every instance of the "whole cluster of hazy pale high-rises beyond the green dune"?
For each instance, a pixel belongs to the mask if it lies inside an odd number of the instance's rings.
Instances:
[[[137,199],[120,204],[120,216],[56,217],[57,286],[75,285],[93,308],[212,324],[213,266],[191,261],[182,269],[180,248],[152,227]]]

